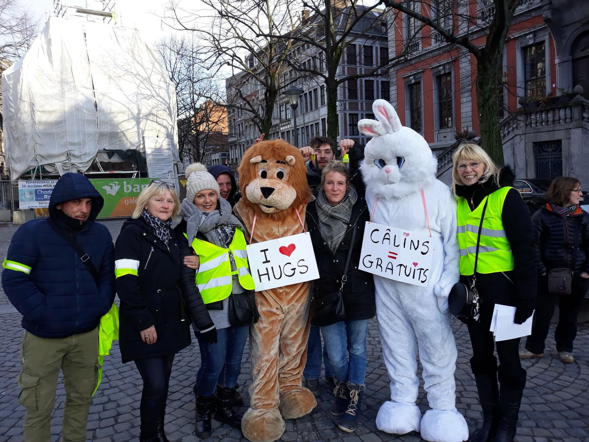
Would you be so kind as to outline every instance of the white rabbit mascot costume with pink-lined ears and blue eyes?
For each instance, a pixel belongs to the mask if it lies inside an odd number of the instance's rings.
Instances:
[[[462,442],[468,426],[455,407],[456,344],[450,328],[448,294],[458,281],[456,202],[436,180],[437,161],[428,143],[403,127],[395,109],[379,99],[372,105],[378,121],[362,119],[370,137],[361,170],[372,221],[430,235],[435,251],[427,287],[375,275],[376,317],[391,401],[376,416],[376,427],[393,434],[421,431],[431,442]],[[431,410],[421,416],[415,401],[417,354]]]

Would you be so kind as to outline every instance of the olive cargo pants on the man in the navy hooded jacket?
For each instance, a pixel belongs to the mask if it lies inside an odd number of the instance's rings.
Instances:
[[[22,338],[19,403],[27,409],[25,442],[50,442],[59,368],[64,374],[64,442],[85,442],[88,410],[98,382],[98,327],[67,338]]]

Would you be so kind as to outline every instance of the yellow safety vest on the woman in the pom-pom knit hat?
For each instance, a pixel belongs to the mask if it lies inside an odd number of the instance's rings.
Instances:
[[[187,234],[184,234],[188,238]],[[238,275],[239,284],[246,290],[254,289],[254,280],[247,262],[246,238],[236,228],[229,248],[219,247],[208,241],[194,238],[192,248],[200,258],[196,272],[196,285],[205,304],[224,300],[231,294],[232,276]],[[233,256],[236,270],[231,271],[229,254]]]

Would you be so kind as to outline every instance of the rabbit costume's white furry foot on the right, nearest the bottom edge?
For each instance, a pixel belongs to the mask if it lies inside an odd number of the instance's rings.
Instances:
[[[421,420],[421,437],[429,442],[463,442],[468,425],[458,410],[428,410]]]

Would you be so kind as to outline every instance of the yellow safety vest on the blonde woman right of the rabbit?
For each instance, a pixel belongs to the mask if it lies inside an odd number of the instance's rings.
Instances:
[[[485,219],[482,222],[481,242],[477,262],[477,273],[495,273],[514,269],[511,245],[505,235],[501,212],[505,196],[511,187],[502,187],[481,201],[471,211],[464,197],[458,198],[458,245],[460,247],[460,274],[474,273],[477,237],[481,214],[488,200]]]

